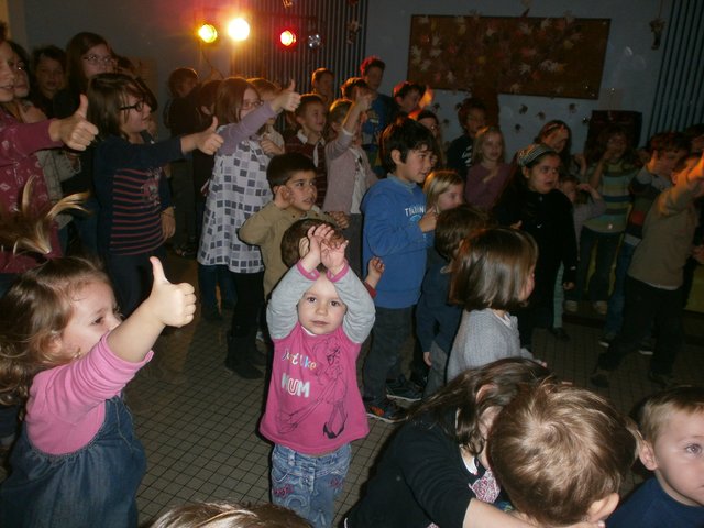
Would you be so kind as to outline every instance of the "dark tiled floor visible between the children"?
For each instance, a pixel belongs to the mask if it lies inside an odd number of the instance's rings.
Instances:
[[[169,264],[173,282],[195,279],[194,261],[172,257]],[[565,324],[571,341],[560,342],[538,331],[535,350],[560,376],[586,386],[602,349],[597,321],[586,309],[581,316],[573,318],[579,323]],[[127,399],[147,453],[147,473],[139,493],[145,525],[166,508],[187,502],[268,499],[271,446],[256,432],[265,384],[240,380],[223,369],[228,326],[197,318],[163,338],[157,346],[161,360],[153,362],[156,369],[151,365],[128,387]],[[696,334],[688,341],[698,344],[690,342],[678,361],[675,375],[683,383],[704,381],[702,327],[698,317],[688,318],[688,334]],[[166,365],[166,371],[158,365]],[[647,358],[631,355],[604,394],[629,410],[657,388],[646,378],[647,366]],[[340,518],[358,499],[380,448],[393,430],[376,420],[370,425],[370,436],[353,444],[352,465],[338,504]],[[626,488],[632,484],[629,481]]]

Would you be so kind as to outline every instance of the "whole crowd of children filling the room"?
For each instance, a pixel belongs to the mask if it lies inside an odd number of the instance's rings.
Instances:
[[[25,219],[48,254],[0,253],[2,526],[136,526],[145,455],[121,393],[162,331],[196,314],[193,286],[162,267],[169,239],[197,257],[202,316],[232,309],[226,369],[270,376],[260,432],[274,444],[274,506],[204,504],[154,526],[332,526],[367,418],[406,422],[348,528],[603,526],[637,453],[654,477],[609,526],[704,526],[701,387],[650,397],[639,433],[531,353],[535,328],[569,340],[563,292],[574,311],[588,289],[608,344],[591,382],[608,386],[654,336],[648,376],[674,385],[684,268],[704,261],[701,130],[654,135],[641,167],[626,130],[572,154],[553,120],[508,164],[481,100],[460,105],[463,134],[446,150],[419,106],[427,87],[381,94],[372,56],[342,98],[328,68],[302,95],[178,68],[173,136],[156,141],[154,95],[103,37],[82,32],[59,52],[37,50],[28,76],[28,54],[0,35],[3,209],[30,180],[36,211],[90,191],[86,213]],[[77,251],[87,257],[61,257]]]

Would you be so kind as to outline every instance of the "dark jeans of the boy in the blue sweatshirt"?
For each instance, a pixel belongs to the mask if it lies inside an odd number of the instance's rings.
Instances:
[[[413,329],[413,310],[376,307],[372,328],[372,346],[364,362],[364,399],[381,403],[386,395],[386,380],[400,376],[400,349]]]

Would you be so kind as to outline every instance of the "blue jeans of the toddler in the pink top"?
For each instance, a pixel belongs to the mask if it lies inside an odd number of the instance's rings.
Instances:
[[[322,457],[274,446],[272,503],[293,509],[314,528],[331,527],[334,499],[342,493],[351,458],[349,443]]]

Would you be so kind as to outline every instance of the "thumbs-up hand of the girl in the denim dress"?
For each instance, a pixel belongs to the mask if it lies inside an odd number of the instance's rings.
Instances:
[[[150,257],[154,274],[152,293],[145,300],[150,314],[160,319],[162,324],[183,327],[194,320],[196,312],[196,294],[188,283],[172,284],[164,274],[162,262]]]

